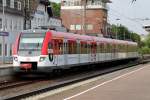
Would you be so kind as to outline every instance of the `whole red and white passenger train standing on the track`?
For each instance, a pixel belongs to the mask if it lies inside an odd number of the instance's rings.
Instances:
[[[138,58],[137,43],[103,37],[34,30],[14,44],[13,66],[25,72],[51,72],[73,66]]]

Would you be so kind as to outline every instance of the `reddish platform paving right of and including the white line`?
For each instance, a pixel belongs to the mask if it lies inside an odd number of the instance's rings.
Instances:
[[[97,84],[64,100],[150,100],[150,65]]]

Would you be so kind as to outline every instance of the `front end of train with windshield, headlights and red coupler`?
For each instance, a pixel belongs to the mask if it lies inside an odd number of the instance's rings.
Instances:
[[[51,32],[23,32],[13,49],[13,66],[16,72],[51,72],[48,44]],[[50,50],[49,50],[50,51]],[[52,51],[52,50],[51,50]]]

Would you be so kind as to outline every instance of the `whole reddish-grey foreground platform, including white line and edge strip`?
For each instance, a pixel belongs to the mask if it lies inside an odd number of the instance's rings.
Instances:
[[[61,90],[63,88],[58,91]],[[56,94],[50,92],[49,96],[43,97],[41,100],[150,100],[150,64],[104,75],[95,81]]]

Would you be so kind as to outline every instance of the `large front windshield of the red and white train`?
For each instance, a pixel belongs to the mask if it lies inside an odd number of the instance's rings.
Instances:
[[[22,33],[20,37],[19,51],[36,50],[40,51],[45,34]]]

